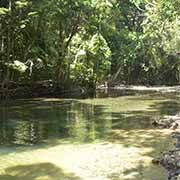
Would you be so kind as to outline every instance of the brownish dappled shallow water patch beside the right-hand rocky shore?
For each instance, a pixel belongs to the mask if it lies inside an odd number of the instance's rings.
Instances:
[[[167,138],[168,131],[156,130],[113,130],[109,142],[122,144],[124,147],[149,148],[144,155],[156,156],[163,149],[171,147],[172,138]],[[142,151],[143,153],[143,151]]]

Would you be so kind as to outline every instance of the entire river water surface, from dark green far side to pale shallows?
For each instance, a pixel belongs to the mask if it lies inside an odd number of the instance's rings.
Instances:
[[[164,180],[151,160],[172,139],[151,121],[179,107],[159,95],[1,104],[0,180]]]

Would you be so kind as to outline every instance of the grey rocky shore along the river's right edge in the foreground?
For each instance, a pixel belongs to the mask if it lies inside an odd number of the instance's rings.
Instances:
[[[152,163],[161,164],[168,172],[168,180],[180,180],[180,115],[166,116],[152,124],[158,128],[170,128],[174,132],[172,136],[176,139],[175,148],[163,152],[159,159],[153,159]]]

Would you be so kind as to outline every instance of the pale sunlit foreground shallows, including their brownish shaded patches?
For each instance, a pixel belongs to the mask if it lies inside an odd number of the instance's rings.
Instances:
[[[15,152],[0,155],[3,162],[0,179],[8,175],[16,177],[13,180],[43,177],[43,180],[56,180],[55,176],[62,180],[151,180],[155,174],[158,180],[164,180],[162,168],[153,166],[151,160],[157,155],[157,148],[160,152],[161,148],[168,147],[170,142],[166,138],[170,132],[131,130],[127,133],[116,130],[108,141],[93,144],[17,148]]]

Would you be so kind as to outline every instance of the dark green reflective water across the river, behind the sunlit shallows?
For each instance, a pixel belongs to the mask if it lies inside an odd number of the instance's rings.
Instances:
[[[53,138],[92,142],[106,139],[114,129],[149,129],[151,119],[179,111],[178,101],[158,98],[35,99],[9,103],[0,108],[0,144],[33,145]]]

